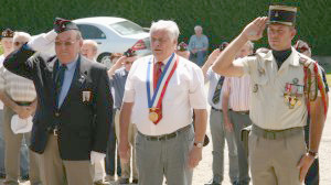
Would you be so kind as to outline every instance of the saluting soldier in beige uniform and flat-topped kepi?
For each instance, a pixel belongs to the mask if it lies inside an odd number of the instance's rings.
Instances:
[[[270,6],[269,18],[249,23],[216,59],[213,69],[225,76],[250,75],[249,164],[254,185],[301,184],[318,155],[328,99],[321,70],[291,47],[297,8]],[[234,61],[247,42],[267,28],[271,51]],[[310,115],[310,143],[303,127]]]

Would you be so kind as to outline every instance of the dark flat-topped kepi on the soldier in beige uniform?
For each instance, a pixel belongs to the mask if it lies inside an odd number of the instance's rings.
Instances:
[[[270,6],[268,24],[296,24],[297,8],[287,6]]]

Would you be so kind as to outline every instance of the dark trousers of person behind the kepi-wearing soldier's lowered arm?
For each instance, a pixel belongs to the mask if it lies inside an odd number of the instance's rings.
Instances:
[[[309,148],[309,118],[307,119],[307,126],[305,127],[305,140],[307,143],[307,148]],[[311,164],[305,179],[305,184],[307,185],[318,185],[320,181],[319,173],[319,159],[316,159]]]

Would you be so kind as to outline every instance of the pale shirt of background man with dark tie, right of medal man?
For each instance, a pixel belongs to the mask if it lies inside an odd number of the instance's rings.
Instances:
[[[205,83],[207,83],[207,81],[210,83],[207,100],[209,100],[210,106],[212,106],[215,109],[222,109],[222,91],[223,90],[221,90],[221,94],[220,94],[220,101],[217,104],[213,102],[214,92],[215,92],[215,89],[216,89],[220,78],[221,78],[221,75],[213,72],[212,67],[210,67],[205,75]]]

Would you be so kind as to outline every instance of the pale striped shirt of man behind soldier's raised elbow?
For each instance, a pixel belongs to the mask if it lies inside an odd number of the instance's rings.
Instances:
[[[233,111],[249,110],[250,77],[226,77],[223,85],[223,94],[229,94],[228,107]]]

